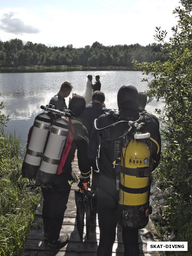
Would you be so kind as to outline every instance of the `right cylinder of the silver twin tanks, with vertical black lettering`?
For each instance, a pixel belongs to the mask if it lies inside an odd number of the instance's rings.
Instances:
[[[42,186],[50,187],[55,180],[68,131],[69,125],[66,117],[62,116],[53,122],[36,177],[37,182]]]

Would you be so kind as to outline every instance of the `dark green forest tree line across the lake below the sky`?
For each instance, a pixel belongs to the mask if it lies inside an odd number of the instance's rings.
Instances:
[[[140,62],[164,62],[168,56],[161,50],[162,44],[140,44],[104,46],[94,42],[92,46],[73,48],[67,46],[46,46],[28,41],[23,44],[20,39],[0,41],[0,67],[18,66],[90,66],[90,67],[133,67],[132,60]]]

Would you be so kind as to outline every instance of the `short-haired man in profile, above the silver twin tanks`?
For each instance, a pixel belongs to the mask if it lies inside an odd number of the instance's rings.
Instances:
[[[64,109],[68,109],[65,98],[69,96],[73,89],[73,85],[69,83],[68,81],[65,81],[61,84],[59,92],[52,97],[49,104],[52,104],[55,106],[55,109],[58,109],[60,111],[64,111]]]

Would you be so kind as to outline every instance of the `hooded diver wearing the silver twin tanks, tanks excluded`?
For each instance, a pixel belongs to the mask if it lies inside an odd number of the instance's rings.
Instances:
[[[85,108],[84,97],[75,95],[69,101],[68,109],[71,116],[68,117],[69,133],[57,170],[56,179],[52,188],[42,188],[44,196],[42,218],[44,223],[44,237],[49,239],[48,247],[58,249],[68,243],[68,235],[62,236],[60,242],[60,230],[63,223],[64,213],[67,209],[68,196],[71,186],[68,180],[72,179],[71,162],[77,149],[78,166],[84,186],[90,181],[90,164],[87,159],[88,132],[83,123],[78,119]],[[54,149],[53,149],[54,150]]]

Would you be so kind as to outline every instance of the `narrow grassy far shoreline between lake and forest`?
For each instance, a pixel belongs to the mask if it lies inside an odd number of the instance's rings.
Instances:
[[[65,71],[87,71],[87,70],[128,70],[135,71],[133,67],[84,67],[84,66],[20,66],[20,67],[1,67],[0,73],[26,73],[26,72],[65,72]]]

